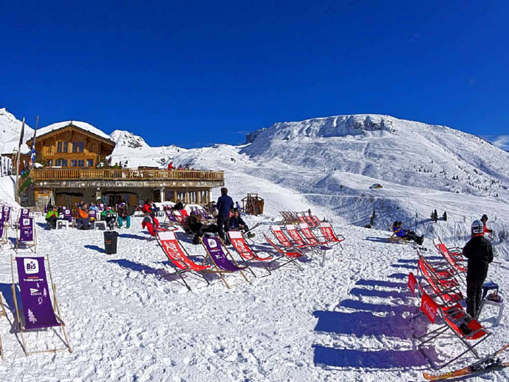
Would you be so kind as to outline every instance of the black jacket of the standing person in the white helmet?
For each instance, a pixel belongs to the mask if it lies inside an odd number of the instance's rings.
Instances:
[[[473,236],[463,248],[468,259],[467,280],[484,281],[488,276],[488,265],[493,261],[491,242],[483,235]]]

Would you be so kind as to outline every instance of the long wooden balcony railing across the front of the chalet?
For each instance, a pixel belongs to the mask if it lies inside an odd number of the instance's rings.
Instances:
[[[139,169],[32,169],[33,180],[224,180],[224,171]]]

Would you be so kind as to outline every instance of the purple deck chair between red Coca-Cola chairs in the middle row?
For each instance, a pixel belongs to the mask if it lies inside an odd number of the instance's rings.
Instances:
[[[204,272],[211,272],[219,275],[228,289],[230,289],[230,285],[224,278],[224,275],[240,272],[246,283],[249,282],[243,270],[247,269],[253,275],[254,273],[247,264],[239,266],[220,237],[200,237],[200,241],[202,242],[203,248],[205,248],[205,252],[207,252],[203,264],[209,262],[212,266],[210,269],[204,270]],[[224,253],[223,248],[226,253]]]

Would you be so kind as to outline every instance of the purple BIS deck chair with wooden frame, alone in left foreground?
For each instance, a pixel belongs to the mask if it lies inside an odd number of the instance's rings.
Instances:
[[[46,264],[48,266],[47,274]],[[66,326],[62,319],[58,299],[56,298],[56,285],[53,282],[53,276],[51,274],[49,256],[16,257],[14,259],[11,255],[11,275],[12,297],[14,300],[14,307],[16,308],[15,319],[18,323],[25,355],[28,356],[34,353],[56,352],[61,350],[72,352],[71,344],[67,337]],[[17,284],[15,275],[18,277]],[[47,275],[49,275],[49,286]],[[17,286],[19,286],[19,291]],[[53,302],[51,302],[51,294],[53,295]],[[21,298],[21,305],[18,303],[18,296]],[[46,348],[34,351],[27,348],[24,338],[25,331],[54,328],[56,326],[60,326],[64,334],[64,340],[62,341],[65,347]],[[57,337],[62,338],[60,336]]]

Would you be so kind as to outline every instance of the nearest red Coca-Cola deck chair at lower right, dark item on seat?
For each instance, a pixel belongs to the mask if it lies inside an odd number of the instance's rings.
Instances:
[[[439,328],[428,332],[423,336],[417,337],[417,339],[420,341],[420,344],[418,345],[419,348],[449,330],[453,332],[454,335],[467,348],[441,366],[437,366],[432,363],[432,366],[435,369],[441,369],[453,363],[468,352],[472,352],[476,358],[480,358],[479,354],[474,348],[485,341],[491,335],[491,333],[477,320],[470,317],[460,304],[456,303],[454,305],[447,306],[439,305],[434,301],[433,298],[431,298],[431,296],[429,296],[427,293],[423,293],[421,297],[420,309],[429,318],[432,324],[435,323],[437,315],[443,320],[444,323],[440,325]]]

